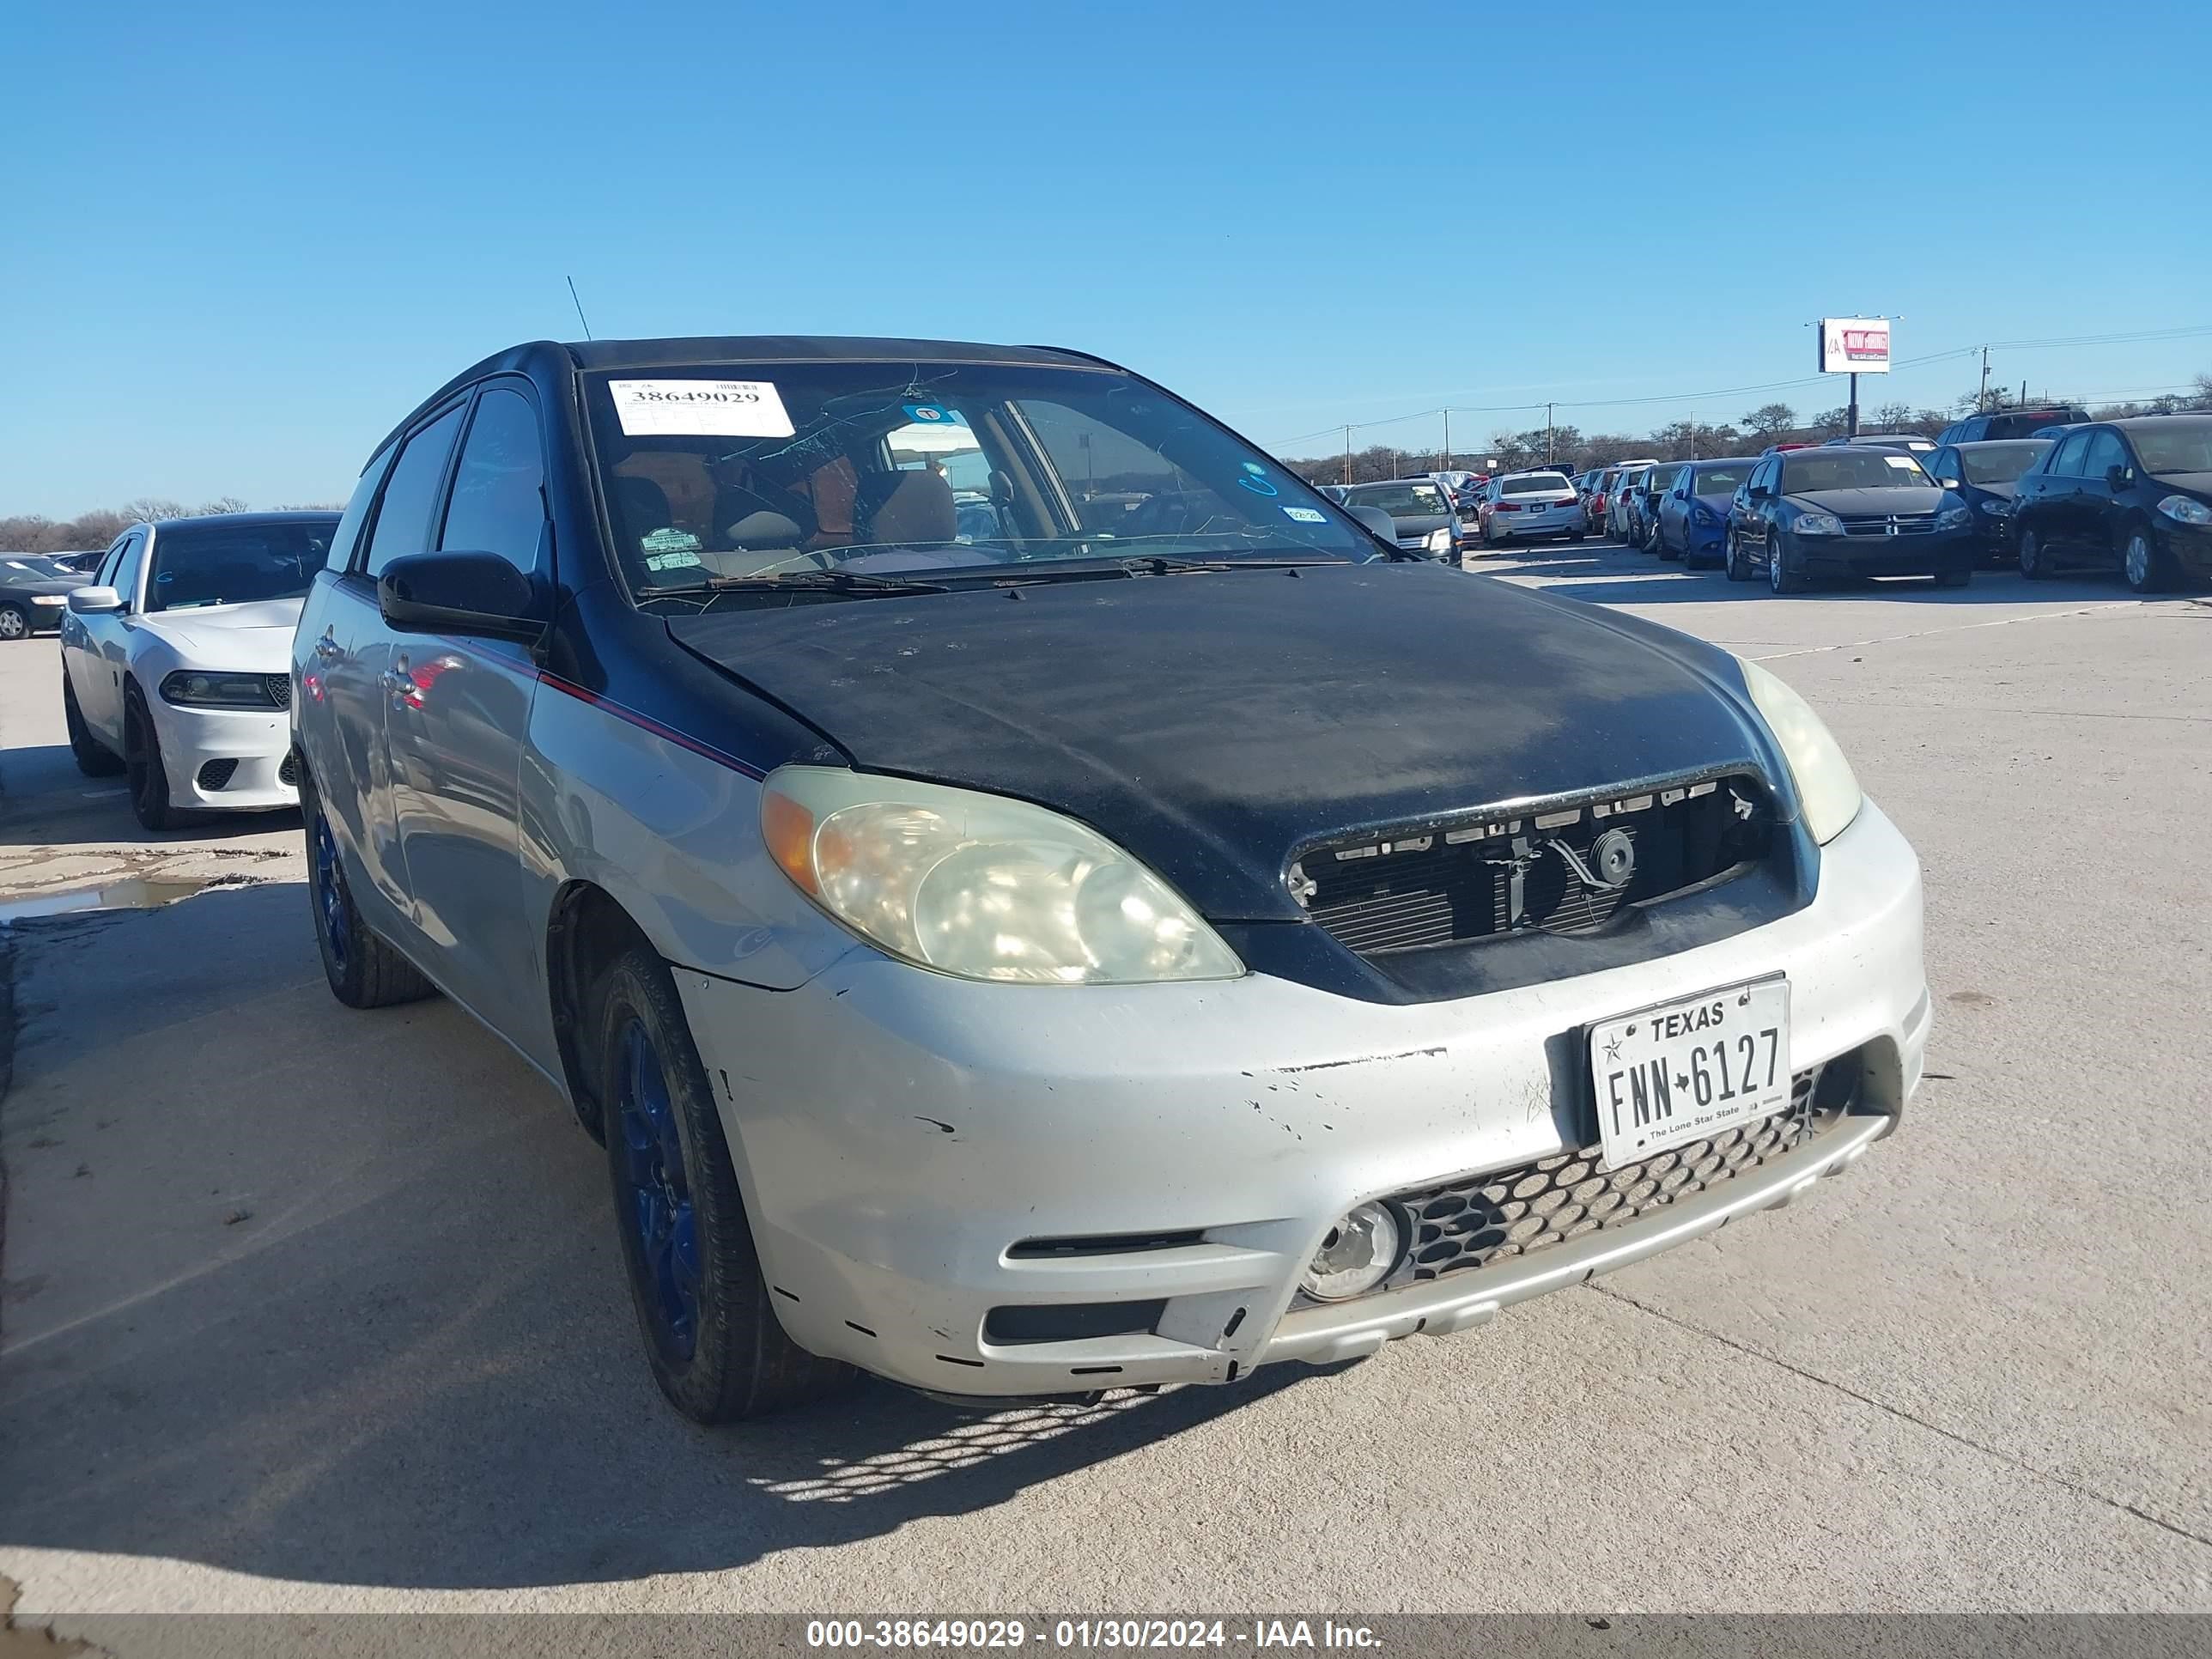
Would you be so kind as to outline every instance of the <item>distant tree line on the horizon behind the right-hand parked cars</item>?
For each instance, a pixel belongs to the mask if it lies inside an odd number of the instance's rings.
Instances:
[[[2075,398],[2035,398],[2028,407],[2077,403]],[[1949,409],[1913,409],[1909,403],[1860,405],[1860,431],[1916,431],[1933,438],[1953,420],[1969,414],[1993,414],[2020,405],[2013,392],[1969,392]],[[2194,392],[2168,394],[2148,403],[2108,403],[2090,409],[2095,420],[2126,420],[2139,414],[2174,414],[2179,409],[2212,407],[2212,374],[2199,374]],[[1840,438],[1849,429],[1851,414],[1838,405],[1814,416],[1798,416],[1787,403],[1761,403],[1745,409],[1732,425],[1705,425],[1699,420],[1674,420],[1657,431],[1595,431],[1582,427],[1528,427],[1526,431],[1495,431],[1480,449],[1460,449],[1449,458],[1436,449],[1396,449],[1391,445],[1369,445],[1352,456],[1285,456],[1283,465],[1312,484],[1369,484],[1380,478],[1405,478],[1407,473],[1444,471],[1462,467],[1469,471],[1517,471],[1524,467],[1566,467],[1584,471],[1613,460],[1650,456],[1652,460],[1712,460],[1719,456],[1754,456],[1776,442],[1820,442]]]

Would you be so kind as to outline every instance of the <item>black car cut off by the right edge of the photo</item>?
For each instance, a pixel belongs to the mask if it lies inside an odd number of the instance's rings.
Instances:
[[[2020,573],[2119,571],[2137,593],[2212,580],[2212,416],[2075,427],[2013,491]]]

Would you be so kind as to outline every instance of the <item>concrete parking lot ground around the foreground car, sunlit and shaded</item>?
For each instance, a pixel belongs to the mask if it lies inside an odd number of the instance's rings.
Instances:
[[[1927,867],[1902,1130],[1467,1336],[980,1420],[681,1422],[544,1082],[451,1004],[341,1009],[296,818],[139,836],[58,748],[53,644],[0,648],[7,894],[217,883],[9,936],[18,1619],[2212,1608],[2212,604],[1480,566],[1827,714]]]

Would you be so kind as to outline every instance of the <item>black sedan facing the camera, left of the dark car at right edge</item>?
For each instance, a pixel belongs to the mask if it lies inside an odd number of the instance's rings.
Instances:
[[[1902,449],[1765,456],[1728,509],[1728,580],[1765,571],[1776,593],[1803,593],[1816,575],[1933,575],[1962,588],[1973,580],[1969,520]]]

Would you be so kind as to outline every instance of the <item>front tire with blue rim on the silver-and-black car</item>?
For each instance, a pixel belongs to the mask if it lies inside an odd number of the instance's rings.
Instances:
[[[821,1400],[856,1371],[785,1336],[668,967],[633,945],[593,993],[615,1230],[653,1380],[692,1422]]]

